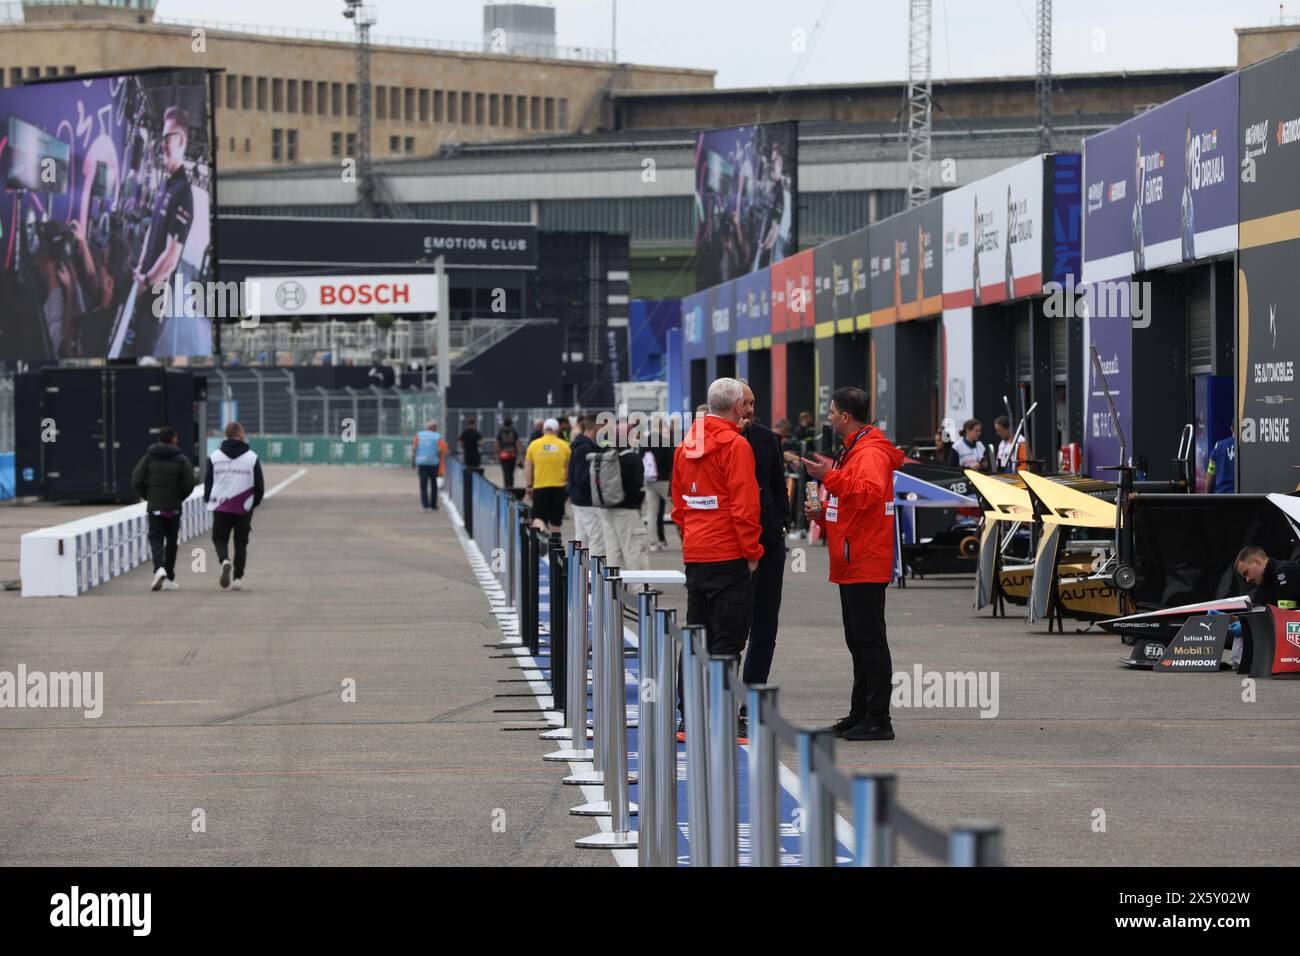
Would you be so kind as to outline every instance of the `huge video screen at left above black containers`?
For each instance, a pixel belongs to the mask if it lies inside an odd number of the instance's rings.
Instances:
[[[0,90],[0,359],[212,352],[208,130],[203,70]]]

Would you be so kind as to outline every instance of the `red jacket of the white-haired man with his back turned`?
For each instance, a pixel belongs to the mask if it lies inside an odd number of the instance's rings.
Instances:
[[[672,520],[688,564],[758,561],[758,481],[754,450],[727,419],[696,419],[672,457]]]

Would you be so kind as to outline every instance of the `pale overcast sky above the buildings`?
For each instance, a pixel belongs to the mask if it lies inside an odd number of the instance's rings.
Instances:
[[[608,47],[612,0],[554,0],[559,43]],[[376,34],[482,39],[474,0],[378,0]],[[159,16],[350,30],[342,0],[160,0]],[[1284,16],[1300,16],[1290,0]],[[1056,0],[1057,73],[1234,66],[1234,27],[1264,26],[1277,0]],[[1028,74],[1035,0],[933,0],[935,77]],[[805,31],[806,52],[793,47]],[[902,79],[907,0],[619,0],[627,62],[718,72],[718,86]]]

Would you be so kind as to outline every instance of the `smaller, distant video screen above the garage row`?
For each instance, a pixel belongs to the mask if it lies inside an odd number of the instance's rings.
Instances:
[[[696,289],[798,248],[798,124],[707,130],[696,139]]]

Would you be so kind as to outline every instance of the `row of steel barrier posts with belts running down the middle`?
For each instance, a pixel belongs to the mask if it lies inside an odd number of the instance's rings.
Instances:
[[[800,727],[779,709],[779,691],[746,685],[740,658],[710,654],[705,628],[679,626],[676,611],[659,607],[656,587],[684,584],[680,571],[620,571],[607,567],[578,541],[562,542],[529,525],[528,509],[512,492],[497,488],[478,470],[447,462],[447,494],[460,510],[467,533],[489,559],[495,583],[519,622],[517,644],[538,663],[554,695],[551,710],[563,726],[542,734],[568,741],[543,760],[592,763],[564,783],[599,786],[603,799],[575,808],[578,816],[607,816],[610,830],[582,838],[585,848],[636,849],[642,866],[677,865],[677,680],[685,715],[688,856],[693,866],[736,866],[740,861],[740,760],[737,711],[746,705],[750,743],[748,804],[750,862],[775,866],[780,851],[781,744],[798,760],[802,806],[801,857],[805,866],[836,864],[836,808],[853,826],[857,866],[892,866],[898,840],[952,866],[1002,865],[1002,831],[968,821],[935,827],[898,801],[890,773],[848,774],[835,762],[829,728]],[[541,571],[549,587],[550,622],[540,606]],[[638,682],[634,705],[627,700],[624,620],[634,622]],[[546,640],[543,640],[543,637]],[[586,680],[590,656],[592,679]],[[590,687],[590,747],[588,736]],[[634,722],[634,723],[632,723]],[[628,767],[628,727],[637,727],[637,773]],[[629,799],[637,784],[638,805]],[[637,827],[632,829],[636,816]]]

